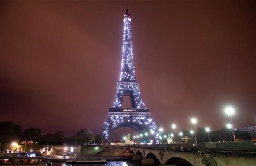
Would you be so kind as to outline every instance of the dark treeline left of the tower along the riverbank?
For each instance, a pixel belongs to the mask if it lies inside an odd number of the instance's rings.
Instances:
[[[20,125],[12,122],[0,122],[0,150],[4,150],[15,141],[21,144],[22,141],[33,141],[35,145],[84,145],[87,143],[101,143],[103,138],[99,134],[93,134],[88,128],[81,129],[76,136],[65,137],[59,131],[55,134],[43,133],[41,129],[30,127],[23,130]],[[29,147],[29,145],[27,146]]]

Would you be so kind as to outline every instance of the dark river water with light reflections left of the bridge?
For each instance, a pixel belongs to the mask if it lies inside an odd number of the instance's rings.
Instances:
[[[64,162],[53,162],[53,166],[140,166],[140,161],[107,161],[106,164],[66,164]]]

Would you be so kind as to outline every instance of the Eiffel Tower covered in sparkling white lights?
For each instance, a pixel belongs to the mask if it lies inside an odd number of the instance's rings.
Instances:
[[[131,15],[126,9],[123,16],[123,58],[120,79],[116,85],[116,98],[109,115],[102,127],[101,134],[107,137],[120,127],[129,127],[140,133],[142,137],[157,139],[159,130],[154,123],[150,110],[142,101],[139,82],[136,81],[131,41]],[[130,96],[131,108],[123,108],[123,96]]]

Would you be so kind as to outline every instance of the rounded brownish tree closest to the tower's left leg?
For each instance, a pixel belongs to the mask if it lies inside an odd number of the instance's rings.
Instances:
[[[94,136],[92,131],[89,128],[81,129],[76,133],[76,143],[78,144],[85,144],[85,143],[92,143],[94,141]]]

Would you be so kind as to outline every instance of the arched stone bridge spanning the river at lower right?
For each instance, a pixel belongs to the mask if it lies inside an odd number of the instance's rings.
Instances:
[[[130,145],[142,165],[256,166],[254,141]]]

